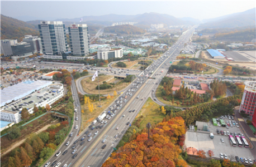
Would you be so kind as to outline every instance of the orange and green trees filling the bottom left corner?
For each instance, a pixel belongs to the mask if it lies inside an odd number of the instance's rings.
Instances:
[[[56,125],[50,126],[46,131],[40,134],[31,134],[20,147],[11,151],[11,154],[6,155],[2,165],[8,167],[30,166],[32,163],[35,166],[48,159],[57,148],[57,145],[64,139],[69,129],[68,121],[63,121]],[[2,160],[2,159],[1,159]]]

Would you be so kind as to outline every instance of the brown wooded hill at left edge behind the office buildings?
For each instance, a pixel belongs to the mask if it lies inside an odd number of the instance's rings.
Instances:
[[[20,42],[25,35],[39,36],[39,31],[33,24],[1,14],[1,40],[18,39]]]

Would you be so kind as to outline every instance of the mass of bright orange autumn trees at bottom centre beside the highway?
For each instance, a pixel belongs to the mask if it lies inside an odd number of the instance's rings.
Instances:
[[[157,124],[150,130],[149,139],[148,134],[136,133],[134,129],[131,133],[136,139],[112,153],[102,166],[186,166],[186,161],[179,157],[185,132],[181,117]]]

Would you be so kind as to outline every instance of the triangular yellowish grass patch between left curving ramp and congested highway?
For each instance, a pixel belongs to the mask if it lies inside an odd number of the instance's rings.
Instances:
[[[102,107],[98,107],[99,101],[92,102],[94,107],[94,111],[92,112],[89,112],[88,104],[81,104],[81,109],[84,110],[84,113],[81,113],[82,121],[79,132],[83,131],[84,129],[86,129],[87,126],[91,125],[92,121],[95,120],[98,117],[98,115],[101,114],[107,108],[107,106],[110,105],[111,102],[113,102],[114,100],[115,98],[113,96],[111,96],[111,99],[101,100]]]

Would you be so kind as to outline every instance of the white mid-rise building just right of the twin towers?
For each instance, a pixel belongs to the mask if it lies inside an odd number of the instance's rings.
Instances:
[[[98,48],[98,59],[108,60],[109,58],[122,57],[122,48]]]

